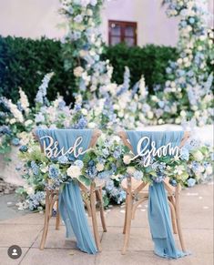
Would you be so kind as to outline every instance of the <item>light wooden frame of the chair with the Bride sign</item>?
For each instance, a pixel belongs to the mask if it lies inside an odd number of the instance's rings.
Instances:
[[[36,133],[33,132],[34,138],[38,140],[36,137]],[[89,145],[89,148],[92,148],[97,143],[97,138],[101,135],[100,130],[95,130]],[[43,147],[40,145],[41,151]],[[88,216],[92,218],[92,227],[94,231],[94,237],[97,245],[97,250],[101,251],[101,243],[98,233],[97,226],[97,213],[96,213],[96,205],[99,206],[100,218],[102,223],[102,228],[104,232],[107,232],[106,220],[104,215],[104,207],[103,207],[103,197],[102,197],[102,189],[104,183],[97,183],[97,181],[92,181],[90,187],[85,186],[83,183],[78,181],[79,187],[81,189],[83,201],[87,207]],[[40,250],[44,250],[46,244],[46,236],[49,226],[49,220],[52,217],[52,210],[54,205],[56,204],[56,229],[59,229],[60,226],[60,215],[58,209],[58,189],[50,190],[46,189],[46,213],[45,213],[45,223],[43,228],[42,239],[40,242]]]

